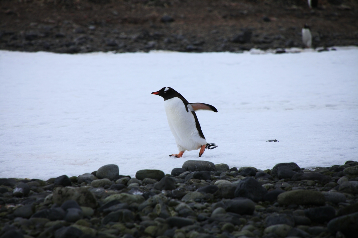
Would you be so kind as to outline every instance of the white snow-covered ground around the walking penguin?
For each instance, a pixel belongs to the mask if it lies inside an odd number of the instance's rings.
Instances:
[[[215,106],[197,116],[215,150],[177,153],[163,106],[173,87]],[[277,139],[279,142],[266,142]],[[300,54],[0,51],[0,177],[170,173],[189,159],[230,167],[332,166],[358,158],[358,48]]]

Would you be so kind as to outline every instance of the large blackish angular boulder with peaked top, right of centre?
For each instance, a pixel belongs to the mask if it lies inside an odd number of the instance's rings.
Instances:
[[[240,181],[236,190],[235,197],[246,197],[254,202],[262,201],[267,190],[261,186],[254,178],[245,178]]]

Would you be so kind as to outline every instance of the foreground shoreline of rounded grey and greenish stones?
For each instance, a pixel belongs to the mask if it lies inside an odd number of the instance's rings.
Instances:
[[[262,171],[190,160],[135,178],[115,164],[47,181],[1,178],[0,230],[0,238],[353,238],[358,162]]]

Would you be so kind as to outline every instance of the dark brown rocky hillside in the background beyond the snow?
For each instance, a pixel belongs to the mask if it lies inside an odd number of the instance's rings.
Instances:
[[[358,45],[358,1],[1,0],[0,49],[240,51]]]

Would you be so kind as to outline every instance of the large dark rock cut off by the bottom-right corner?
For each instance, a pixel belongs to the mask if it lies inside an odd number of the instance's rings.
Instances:
[[[358,212],[332,219],[328,222],[327,228],[332,234],[340,231],[347,238],[357,237]]]

